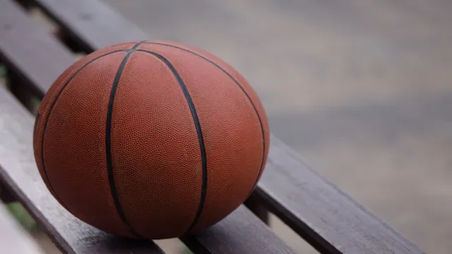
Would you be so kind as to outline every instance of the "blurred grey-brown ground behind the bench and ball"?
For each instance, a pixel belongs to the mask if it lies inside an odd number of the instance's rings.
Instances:
[[[150,39],[230,62],[314,169],[427,253],[450,253],[452,1],[107,2]]]

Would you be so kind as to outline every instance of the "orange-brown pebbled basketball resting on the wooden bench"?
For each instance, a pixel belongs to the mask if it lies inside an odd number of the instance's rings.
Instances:
[[[37,166],[73,215],[111,234],[173,238],[230,214],[268,154],[256,92],[212,54],[128,42],[66,69],[34,131]]]

